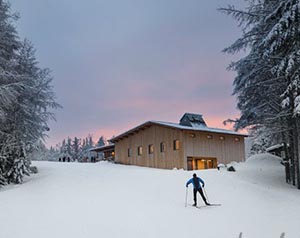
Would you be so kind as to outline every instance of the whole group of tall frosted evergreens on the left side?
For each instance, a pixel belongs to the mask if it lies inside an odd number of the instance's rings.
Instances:
[[[39,67],[32,43],[20,39],[17,19],[0,0],[0,186],[21,183],[29,174],[29,154],[60,107],[50,70]]]

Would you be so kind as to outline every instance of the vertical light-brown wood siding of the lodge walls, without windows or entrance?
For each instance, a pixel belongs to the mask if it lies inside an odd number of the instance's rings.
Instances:
[[[195,137],[191,137],[193,133]],[[207,139],[212,135],[213,139]],[[220,140],[224,136],[225,140]],[[239,137],[240,141],[234,141]],[[180,141],[180,149],[173,149],[173,141]],[[160,152],[160,143],[166,143],[166,151]],[[154,153],[149,154],[148,146],[154,145]],[[142,146],[143,154],[138,155]],[[128,149],[131,156],[128,157]],[[187,157],[215,157],[218,163],[244,161],[244,137],[218,133],[188,132],[159,125],[150,125],[115,142],[115,161],[122,164],[146,166],[162,169],[187,169]]]

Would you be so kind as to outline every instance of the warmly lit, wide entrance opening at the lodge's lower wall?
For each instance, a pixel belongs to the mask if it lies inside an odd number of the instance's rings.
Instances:
[[[217,158],[211,157],[188,157],[187,169],[188,170],[200,170],[200,169],[213,169],[217,168]]]

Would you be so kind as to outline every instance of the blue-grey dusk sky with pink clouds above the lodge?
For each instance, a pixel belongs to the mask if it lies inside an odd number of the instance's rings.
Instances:
[[[209,127],[236,118],[237,56],[222,53],[237,23],[217,8],[241,0],[10,0],[22,38],[50,68],[57,102],[48,146],[107,139],[145,121],[202,114]]]

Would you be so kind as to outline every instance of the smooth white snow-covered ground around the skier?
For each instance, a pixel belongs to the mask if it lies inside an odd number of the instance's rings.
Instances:
[[[185,207],[191,171],[34,165],[39,174],[0,190],[1,238],[300,237],[300,191],[285,184],[283,166],[270,155],[235,164],[235,173],[196,171],[209,201],[222,203],[200,209]]]

